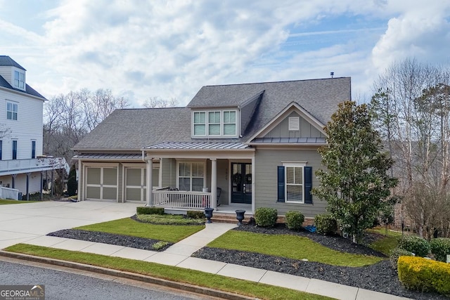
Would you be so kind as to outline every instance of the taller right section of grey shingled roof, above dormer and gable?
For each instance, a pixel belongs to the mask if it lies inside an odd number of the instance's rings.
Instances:
[[[246,131],[251,136],[293,102],[325,125],[338,109],[338,103],[351,100],[350,86],[350,77],[203,86],[187,107],[240,107],[264,91],[252,128]]]

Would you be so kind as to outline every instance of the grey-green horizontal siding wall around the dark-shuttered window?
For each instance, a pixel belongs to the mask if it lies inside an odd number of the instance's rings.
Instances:
[[[316,214],[323,214],[326,201],[313,196],[312,204],[277,202],[277,167],[283,162],[307,162],[312,167],[312,186],[317,187],[320,181],[314,172],[322,168],[321,157],[317,150],[265,150],[255,152],[255,209],[270,207],[277,209],[278,215],[283,216],[288,211],[301,211],[307,218],[314,218]]]

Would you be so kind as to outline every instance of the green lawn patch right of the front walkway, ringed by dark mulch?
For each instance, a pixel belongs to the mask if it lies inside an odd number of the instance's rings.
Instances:
[[[339,252],[298,235],[267,235],[237,230],[229,230],[207,246],[283,256],[289,259],[308,259],[333,266],[360,267],[383,260],[376,256]]]

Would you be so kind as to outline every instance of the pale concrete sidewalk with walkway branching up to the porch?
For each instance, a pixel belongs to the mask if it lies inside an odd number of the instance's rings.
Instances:
[[[126,259],[137,259],[153,263],[162,263],[169,266],[200,270],[207,273],[224,275],[231,278],[261,282],[267,285],[287,287],[311,294],[330,296],[342,300],[400,300],[406,299],[391,294],[373,292],[367,289],[338,285],[333,282],[304,278],[284,273],[276,273],[270,270],[239,266],[233,263],[222,263],[207,259],[191,257],[191,254],[226,231],[235,228],[236,225],[228,223],[207,223],[204,230],[187,237],[172,245],[164,252],[153,252],[148,250],[134,249],[130,247],[101,244],[97,242],[86,242],[82,240],[70,240],[63,237],[40,236],[27,240],[27,244],[44,247],[82,251],[108,256],[117,256]]]

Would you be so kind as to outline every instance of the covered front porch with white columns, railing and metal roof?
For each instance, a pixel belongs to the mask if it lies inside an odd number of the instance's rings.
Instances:
[[[165,209],[252,213],[255,149],[238,143],[162,143],[143,149],[146,186],[158,176],[158,188],[146,189],[146,205]],[[159,164],[157,174],[149,170]],[[161,188],[165,187],[165,188]],[[172,188],[169,188],[172,187]]]

